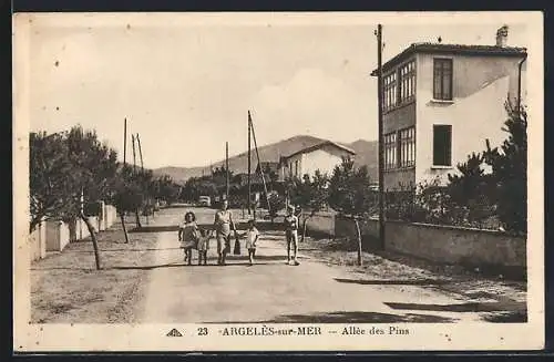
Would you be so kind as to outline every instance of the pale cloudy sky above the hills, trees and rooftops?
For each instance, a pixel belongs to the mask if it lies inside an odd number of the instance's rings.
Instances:
[[[72,17],[37,17],[30,24],[31,131],[81,124],[96,130],[122,159],[126,117],[127,159],[131,134],[140,134],[151,168],[219,162],[225,142],[230,156],[244,152],[248,110],[258,146],[299,134],[377,139],[371,14],[311,22],[260,14],[246,23],[233,15],[205,23],[155,14]],[[438,37],[443,43],[494,44],[504,23],[509,45],[525,46],[525,24],[495,17],[458,25],[448,18],[384,23],[383,62]]]

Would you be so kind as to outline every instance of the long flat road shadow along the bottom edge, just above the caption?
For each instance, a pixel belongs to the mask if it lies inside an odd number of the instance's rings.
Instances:
[[[453,323],[455,319],[428,314],[389,314],[366,311],[335,311],[308,314],[283,314],[256,323]],[[253,321],[220,321],[212,323],[253,323]]]

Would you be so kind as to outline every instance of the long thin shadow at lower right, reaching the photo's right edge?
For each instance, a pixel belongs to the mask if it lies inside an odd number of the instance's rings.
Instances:
[[[466,302],[456,304],[421,304],[421,303],[397,303],[384,302],[386,306],[398,310],[424,310],[437,312],[494,312],[510,310],[526,310],[525,303],[521,302]]]

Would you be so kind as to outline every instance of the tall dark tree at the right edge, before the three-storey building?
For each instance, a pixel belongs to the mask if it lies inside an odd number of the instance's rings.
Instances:
[[[510,101],[502,131],[509,134],[500,149],[488,146],[484,157],[492,167],[492,183],[500,220],[506,230],[527,232],[527,113]]]

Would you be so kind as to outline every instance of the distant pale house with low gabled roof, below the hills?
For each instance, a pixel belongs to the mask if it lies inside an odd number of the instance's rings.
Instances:
[[[287,177],[302,178],[304,175],[314,176],[317,169],[330,175],[335,166],[342,162],[342,157],[355,156],[356,152],[331,141],[299,149],[279,161],[279,180]]]

